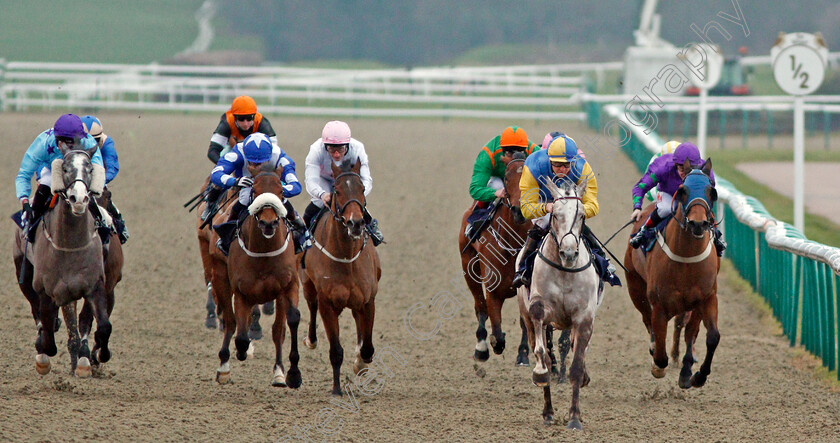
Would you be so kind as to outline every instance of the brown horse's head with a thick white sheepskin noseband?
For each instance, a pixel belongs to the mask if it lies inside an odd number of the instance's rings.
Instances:
[[[248,172],[254,178],[251,189],[254,200],[248,206],[248,213],[257,222],[257,228],[265,238],[274,237],[280,226],[280,219],[286,217],[283,206],[283,182],[271,163],[248,165]]]

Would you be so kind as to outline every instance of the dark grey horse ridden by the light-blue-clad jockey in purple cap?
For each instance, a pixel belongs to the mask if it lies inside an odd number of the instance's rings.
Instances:
[[[24,263],[29,269],[20,286],[38,327],[35,370],[41,375],[50,372],[49,358],[58,352],[55,329],[59,307],[67,325],[71,373],[91,375],[88,333],[92,317],[97,324],[94,352],[99,351],[94,361],[105,363],[111,358],[108,341],[113,303],[109,305],[106,294],[102,242],[94,217],[87,210],[91,193],[101,193],[105,184],[104,171],[93,172],[91,156],[95,151],[61,150],[64,157],[51,166],[53,193],[58,197],[55,207],[44,214],[31,247],[25,248],[26,234],[22,230],[15,235],[15,268],[18,275]],[[81,337],[76,314],[76,301],[80,299],[84,299],[83,312],[87,311],[82,317]]]

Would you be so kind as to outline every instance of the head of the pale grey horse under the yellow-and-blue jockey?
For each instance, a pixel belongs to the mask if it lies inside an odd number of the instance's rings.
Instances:
[[[571,267],[580,255],[580,233],[586,218],[581,196],[586,192],[586,182],[575,185],[570,180],[562,180],[558,185],[547,181],[546,187],[554,199],[551,235],[557,241],[563,265]]]

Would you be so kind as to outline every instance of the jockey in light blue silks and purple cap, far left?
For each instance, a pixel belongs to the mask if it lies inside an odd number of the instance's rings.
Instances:
[[[59,117],[52,128],[47,129],[35,138],[20,162],[20,169],[15,178],[15,193],[23,208],[21,222],[24,232],[29,234],[29,242],[35,240],[35,223],[47,212],[52,197],[52,162],[55,159],[63,158],[62,148],[97,148],[96,140],[85,133],[84,125],[77,115],[64,114]],[[91,163],[93,164],[94,180],[101,179],[104,182],[105,170],[99,149],[96,149],[91,156]],[[31,179],[33,174],[38,180],[38,189],[35,191],[30,205],[29,193],[32,191]],[[102,216],[99,213],[99,206],[93,202],[93,199],[91,199],[91,202],[91,213],[97,222],[97,226],[100,226]],[[110,232],[106,234],[103,230],[100,230],[100,235],[102,243],[107,244]]]

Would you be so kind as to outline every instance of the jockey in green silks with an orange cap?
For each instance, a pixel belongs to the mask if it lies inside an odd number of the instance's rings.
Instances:
[[[464,234],[468,239],[473,234],[477,235],[476,228],[492,215],[494,201],[505,196],[505,163],[502,157],[512,157],[515,152],[531,155],[539,149],[539,145],[528,140],[528,134],[519,126],[508,126],[481,148],[470,180],[470,197],[476,202],[473,212],[467,217],[469,223]]]

